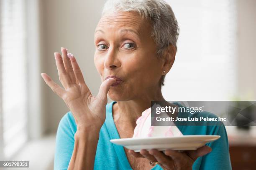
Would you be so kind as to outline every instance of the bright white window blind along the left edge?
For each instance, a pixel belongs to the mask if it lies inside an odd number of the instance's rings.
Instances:
[[[0,0],[1,130],[3,157],[27,140],[25,0]]]

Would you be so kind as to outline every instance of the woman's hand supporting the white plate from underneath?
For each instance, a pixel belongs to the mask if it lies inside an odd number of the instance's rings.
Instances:
[[[151,162],[158,163],[164,170],[192,170],[192,165],[195,160],[207,153],[212,149],[209,146],[202,146],[197,150],[179,152],[175,150],[166,150],[165,153],[151,149],[141,150],[139,153],[129,150],[137,158],[147,158]]]

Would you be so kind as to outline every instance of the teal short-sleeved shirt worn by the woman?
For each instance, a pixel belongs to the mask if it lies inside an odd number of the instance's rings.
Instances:
[[[106,120],[100,129],[94,163],[95,170],[131,170],[124,148],[109,141],[110,139],[120,138],[112,115],[112,107],[115,103],[116,101],[113,101],[106,105]],[[177,104],[182,107],[179,103]],[[216,117],[209,112],[202,112],[200,116]],[[212,152],[197,158],[193,164],[193,170],[231,170],[228,137],[223,124],[218,126],[182,125],[177,127],[183,135],[221,136],[220,139],[206,144],[212,148]],[[67,170],[74,149],[74,134],[76,131],[77,125],[72,112],[67,112],[61,118],[56,134],[54,170]],[[151,170],[162,170],[162,168],[156,165]]]

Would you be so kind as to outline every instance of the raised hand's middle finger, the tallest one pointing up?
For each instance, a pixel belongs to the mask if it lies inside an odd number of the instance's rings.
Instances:
[[[61,47],[61,53],[62,53],[62,57],[63,57],[64,67],[67,70],[67,73],[69,75],[71,83],[72,84],[76,84],[77,83],[76,77],[74,75],[74,71],[73,71],[70,59],[69,59],[69,57],[67,55],[67,49],[64,48],[64,47]]]

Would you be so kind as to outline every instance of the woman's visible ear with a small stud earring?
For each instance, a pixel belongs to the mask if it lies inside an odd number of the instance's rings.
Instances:
[[[176,55],[177,49],[174,47],[174,45],[169,45],[166,50],[164,51],[164,56],[163,56],[163,71],[165,70],[165,74],[171,70],[172,65],[175,60],[175,55]]]

